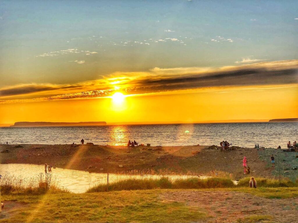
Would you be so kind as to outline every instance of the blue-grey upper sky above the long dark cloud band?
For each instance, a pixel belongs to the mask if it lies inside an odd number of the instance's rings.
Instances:
[[[0,87],[297,59],[297,9],[297,1],[1,1]]]

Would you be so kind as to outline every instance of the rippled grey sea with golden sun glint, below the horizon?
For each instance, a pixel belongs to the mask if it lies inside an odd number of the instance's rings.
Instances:
[[[288,141],[298,141],[297,136],[297,122],[0,128],[0,143],[9,144],[79,144],[83,138],[99,145],[126,145],[130,139],[175,146],[219,145],[227,140],[237,146],[285,148]]]

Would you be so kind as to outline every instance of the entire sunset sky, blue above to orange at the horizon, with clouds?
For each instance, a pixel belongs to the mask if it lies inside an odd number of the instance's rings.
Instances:
[[[0,123],[298,117],[297,12],[297,1],[1,1]]]

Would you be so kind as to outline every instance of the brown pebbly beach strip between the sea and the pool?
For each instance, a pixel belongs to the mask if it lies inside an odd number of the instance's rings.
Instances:
[[[246,156],[255,177],[278,177],[277,149],[243,148],[221,151],[215,146],[109,146],[109,145],[0,145],[2,164],[45,164],[88,172],[119,173],[133,170],[167,171],[175,174],[205,175],[214,170],[231,173],[234,179],[246,177],[242,160]],[[276,167],[271,167],[274,153]],[[296,152],[280,154],[281,176],[295,179]],[[55,170],[53,170],[55,171]]]

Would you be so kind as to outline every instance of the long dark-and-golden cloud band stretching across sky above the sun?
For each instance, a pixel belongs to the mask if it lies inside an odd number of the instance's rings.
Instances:
[[[0,103],[109,96],[115,87],[125,94],[171,92],[232,86],[298,86],[298,60],[225,67],[155,67],[148,72],[113,73],[77,84],[22,84],[0,89]]]

